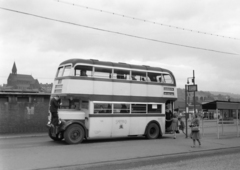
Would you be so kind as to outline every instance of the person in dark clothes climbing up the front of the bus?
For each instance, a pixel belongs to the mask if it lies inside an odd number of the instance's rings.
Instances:
[[[53,126],[58,126],[59,124],[59,117],[58,117],[58,108],[60,107],[61,103],[59,102],[59,96],[54,96],[50,100],[49,106],[49,113],[50,113],[50,120]]]

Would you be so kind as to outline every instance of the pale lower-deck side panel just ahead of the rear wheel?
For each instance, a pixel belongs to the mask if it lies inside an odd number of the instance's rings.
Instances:
[[[147,125],[146,117],[131,117],[130,135],[143,135]]]

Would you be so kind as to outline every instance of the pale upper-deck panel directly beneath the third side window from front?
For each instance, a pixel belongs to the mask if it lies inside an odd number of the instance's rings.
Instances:
[[[113,83],[113,95],[130,96],[130,83]]]

